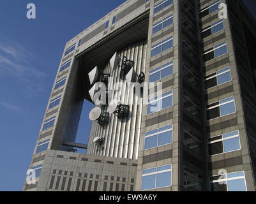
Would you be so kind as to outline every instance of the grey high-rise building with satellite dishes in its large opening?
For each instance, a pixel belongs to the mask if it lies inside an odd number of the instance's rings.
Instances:
[[[111,11],[66,43],[24,191],[255,191],[255,36],[240,0]]]

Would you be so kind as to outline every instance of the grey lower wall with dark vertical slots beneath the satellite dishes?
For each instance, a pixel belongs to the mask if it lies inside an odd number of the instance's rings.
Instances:
[[[133,191],[137,160],[48,150],[25,191]]]

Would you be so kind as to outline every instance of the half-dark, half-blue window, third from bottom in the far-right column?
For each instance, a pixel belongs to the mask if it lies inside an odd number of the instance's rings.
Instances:
[[[234,96],[206,106],[207,120],[216,119],[236,112]]]

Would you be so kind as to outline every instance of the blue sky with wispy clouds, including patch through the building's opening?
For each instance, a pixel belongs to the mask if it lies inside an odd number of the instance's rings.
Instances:
[[[0,191],[22,190],[64,45],[123,2],[1,0]],[[34,20],[26,18],[28,3],[36,4]],[[93,108],[84,106],[80,143],[87,143]]]

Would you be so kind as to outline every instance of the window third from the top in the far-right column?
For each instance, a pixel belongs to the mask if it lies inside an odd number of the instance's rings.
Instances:
[[[203,59],[203,62],[207,62],[207,61],[210,61],[217,57],[220,57],[224,54],[227,54],[227,42],[226,41],[216,45],[213,48],[210,48],[209,50],[206,50],[206,52],[204,52],[204,54],[202,55],[202,59]]]

